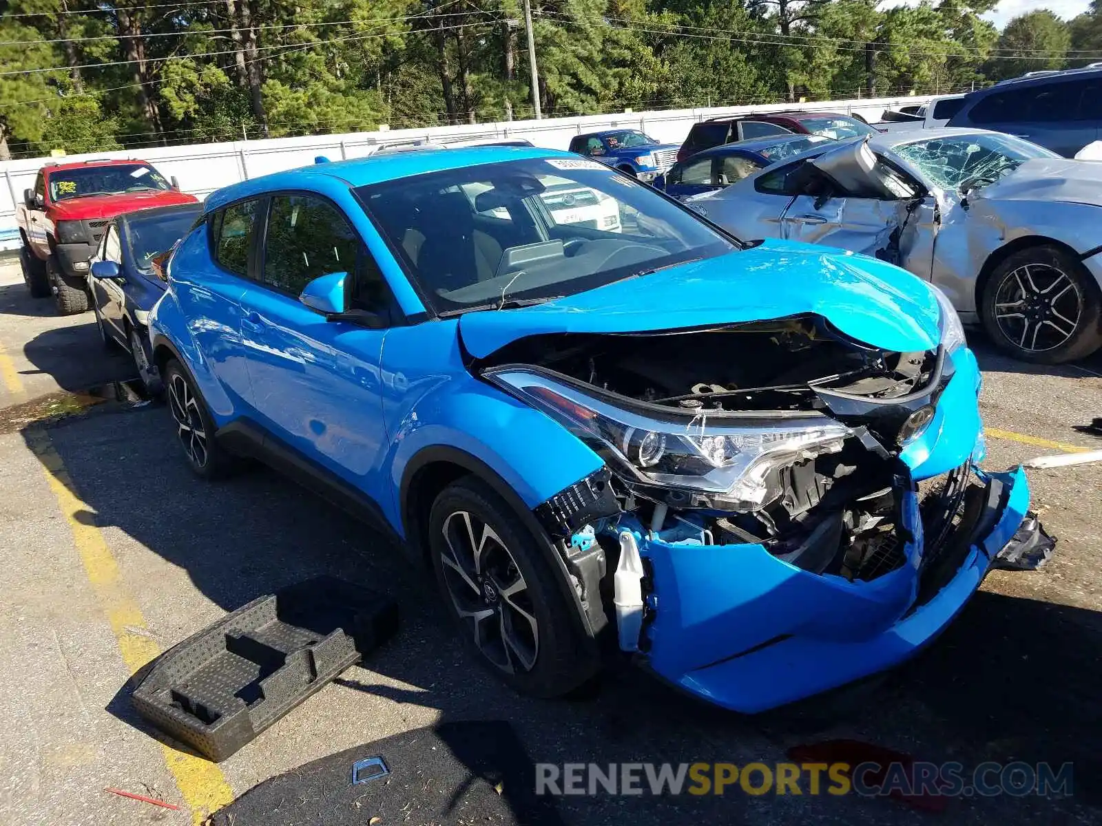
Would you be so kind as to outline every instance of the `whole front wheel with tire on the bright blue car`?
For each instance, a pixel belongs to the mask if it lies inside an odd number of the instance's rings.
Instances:
[[[467,645],[512,688],[559,697],[593,676],[581,632],[538,537],[485,482],[445,488],[429,517],[429,545],[449,615]]]

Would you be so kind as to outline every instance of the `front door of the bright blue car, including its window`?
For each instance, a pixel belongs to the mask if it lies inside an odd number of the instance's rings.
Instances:
[[[258,279],[242,300],[251,405],[288,447],[367,487],[387,444],[379,362],[386,329],[328,320],[299,301],[315,278],[348,273],[348,300],[387,307],[385,282],[344,213],[311,193],[274,193]]]

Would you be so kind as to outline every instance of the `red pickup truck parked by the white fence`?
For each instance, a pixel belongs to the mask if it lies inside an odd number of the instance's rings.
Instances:
[[[88,259],[111,218],[196,200],[144,161],[47,163],[15,210],[20,263],[31,295],[53,295],[62,315],[83,313],[91,306]]]

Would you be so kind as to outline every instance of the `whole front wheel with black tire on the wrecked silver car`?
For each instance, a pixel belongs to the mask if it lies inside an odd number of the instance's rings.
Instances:
[[[1023,361],[1059,365],[1102,346],[1102,294],[1085,268],[1050,244],[1015,252],[984,286],[981,316],[996,346]]]

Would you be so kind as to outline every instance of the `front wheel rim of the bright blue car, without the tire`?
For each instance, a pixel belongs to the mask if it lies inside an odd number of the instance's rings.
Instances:
[[[444,585],[475,645],[508,674],[531,671],[539,628],[528,584],[501,537],[468,511],[455,511],[441,528]]]

